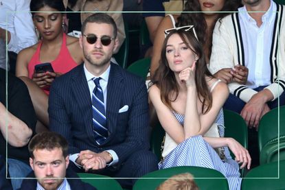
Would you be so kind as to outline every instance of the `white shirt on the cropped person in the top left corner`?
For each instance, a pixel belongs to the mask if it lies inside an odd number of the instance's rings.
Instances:
[[[11,34],[8,50],[16,54],[37,42],[30,0],[1,0],[0,27]]]

